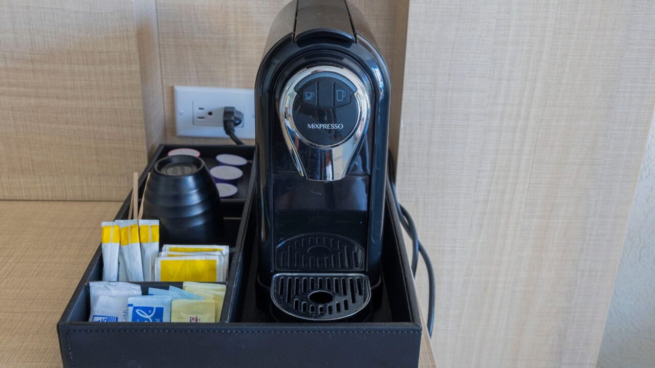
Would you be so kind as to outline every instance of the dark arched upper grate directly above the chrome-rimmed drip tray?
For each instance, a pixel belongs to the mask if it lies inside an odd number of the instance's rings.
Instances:
[[[275,269],[288,272],[364,270],[364,248],[354,240],[314,232],[293,236],[275,248]]]

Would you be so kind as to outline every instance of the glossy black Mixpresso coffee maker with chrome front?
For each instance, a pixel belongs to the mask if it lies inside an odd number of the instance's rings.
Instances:
[[[277,320],[366,320],[380,299],[390,93],[352,4],[278,14],[255,85],[258,304]]]

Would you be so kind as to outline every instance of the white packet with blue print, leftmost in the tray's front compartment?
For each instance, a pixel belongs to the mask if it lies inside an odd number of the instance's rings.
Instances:
[[[89,282],[88,288],[89,322],[126,322],[128,298],[141,295],[141,286],[127,282]]]

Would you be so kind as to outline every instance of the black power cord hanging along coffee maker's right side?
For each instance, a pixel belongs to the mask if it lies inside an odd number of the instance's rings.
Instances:
[[[391,182],[391,191],[394,195],[394,200],[396,201],[396,211],[398,212],[400,225],[402,225],[403,229],[405,229],[407,234],[409,234],[409,238],[411,238],[412,241],[411,273],[413,276],[416,276],[416,269],[419,263],[419,253],[421,254],[421,257],[423,257],[425,268],[428,272],[428,287],[430,290],[428,295],[428,322],[426,325],[428,327],[428,335],[432,337],[432,326],[434,325],[434,299],[436,295],[432,261],[430,261],[430,256],[428,255],[426,249],[423,247],[423,244],[421,244],[419,241],[419,235],[417,233],[414,220],[411,218],[411,215],[409,215],[407,209],[405,209],[400,204],[400,202],[398,202],[398,194],[396,193],[396,166],[394,166],[394,157],[391,151],[388,152],[387,164]]]

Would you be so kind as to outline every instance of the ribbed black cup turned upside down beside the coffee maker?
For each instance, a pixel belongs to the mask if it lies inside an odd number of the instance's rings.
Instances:
[[[159,244],[223,244],[221,198],[197,157],[155,162],[143,194],[143,218],[159,219]]]

